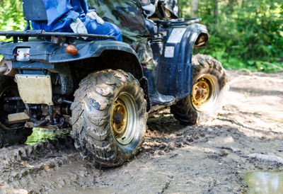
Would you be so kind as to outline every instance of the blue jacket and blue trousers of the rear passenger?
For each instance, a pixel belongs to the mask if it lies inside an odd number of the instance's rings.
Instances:
[[[48,21],[32,21],[33,30],[58,31],[72,33],[70,24],[77,18],[83,22],[90,34],[113,35],[114,40],[122,41],[121,30],[107,21],[103,25],[92,20],[86,13],[96,11],[88,9],[86,0],[42,0],[45,4]]]

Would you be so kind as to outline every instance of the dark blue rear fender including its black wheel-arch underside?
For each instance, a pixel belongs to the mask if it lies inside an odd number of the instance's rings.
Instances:
[[[45,69],[52,71],[56,64],[74,64],[80,61],[83,62],[84,59],[100,57],[105,63],[104,69],[122,69],[133,74],[139,81],[144,78],[136,52],[125,42],[115,40],[74,40],[72,45],[78,50],[77,55],[67,53],[65,46],[45,40],[34,39],[28,42],[10,42],[0,45],[0,55],[3,55],[6,60],[13,61],[13,68],[31,71]],[[30,61],[16,61],[16,50],[26,47],[30,48]],[[86,65],[89,65],[89,63]],[[91,63],[91,65],[96,66],[96,63]],[[35,73],[38,74],[40,71]],[[141,81],[140,84],[148,96],[147,82]],[[149,104],[149,99],[146,100]]]

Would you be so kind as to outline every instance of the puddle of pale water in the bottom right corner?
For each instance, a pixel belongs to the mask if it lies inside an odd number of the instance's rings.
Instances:
[[[283,193],[282,171],[255,171],[247,173],[243,179],[248,184],[247,193]]]

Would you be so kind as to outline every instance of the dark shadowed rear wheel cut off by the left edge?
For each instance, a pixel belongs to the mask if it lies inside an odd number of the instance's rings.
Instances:
[[[8,123],[8,114],[18,112],[13,107],[23,102],[7,102],[4,100],[6,97],[18,97],[18,89],[11,77],[0,74],[0,147],[24,143],[33,132],[32,128],[25,128],[24,123],[12,125]]]

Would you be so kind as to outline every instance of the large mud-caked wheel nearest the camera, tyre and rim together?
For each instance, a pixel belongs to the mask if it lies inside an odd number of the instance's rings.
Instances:
[[[108,168],[139,152],[146,132],[146,101],[132,74],[94,72],[81,81],[74,96],[71,135],[83,158]]]

